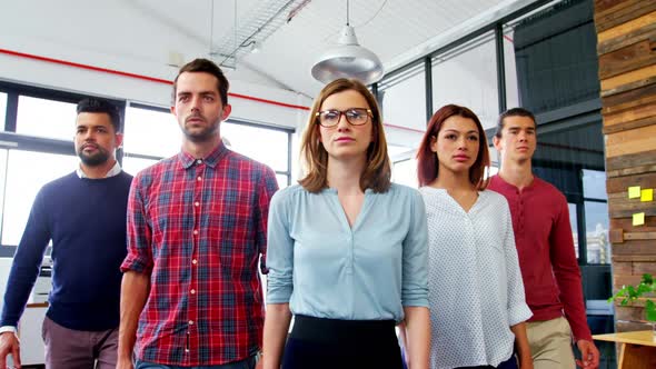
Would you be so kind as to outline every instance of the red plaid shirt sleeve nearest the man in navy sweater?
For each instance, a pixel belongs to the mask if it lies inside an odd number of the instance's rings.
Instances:
[[[140,273],[152,271],[151,241],[152,231],[146,217],[143,201],[143,178],[139,174],[132,180],[128,198],[128,256],[121,263],[121,271]]]

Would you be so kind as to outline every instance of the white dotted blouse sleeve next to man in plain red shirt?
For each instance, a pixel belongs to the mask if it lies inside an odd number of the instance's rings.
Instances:
[[[519,258],[515,247],[515,232],[513,231],[513,218],[508,202],[504,201],[503,222],[505,229],[504,250],[506,253],[506,272],[508,276],[508,323],[518,325],[533,316],[530,308],[526,305],[524,281],[519,269]]]

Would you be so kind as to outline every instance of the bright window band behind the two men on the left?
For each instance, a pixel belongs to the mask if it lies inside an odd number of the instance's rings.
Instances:
[[[6,137],[6,140],[0,138],[0,241],[3,246],[14,247],[20,242],[41,187],[71,173],[79,164],[71,144],[76,103],[70,101],[82,98],[14,84],[9,86],[7,92],[0,92],[0,122],[18,133],[0,132]],[[7,116],[8,101],[18,102],[16,114]],[[168,109],[140,104],[125,108],[122,101],[113,102],[125,109],[121,166],[126,172],[136,174],[179,152],[182,134]],[[6,119],[12,121],[6,123]],[[221,133],[230,141],[232,150],[270,166],[279,187],[288,186],[292,130],[239,121],[221,124]],[[11,255],[11,248],[0,250],[0,256]]]

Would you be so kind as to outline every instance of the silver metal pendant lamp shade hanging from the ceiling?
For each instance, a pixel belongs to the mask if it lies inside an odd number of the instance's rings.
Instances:
[[[382,78],[378,57],[358,44],[352,27],[345,26],[338,46],[326,51],[312,67],[312,77],[324,83],[338,78],[356,78],[365,84]]]

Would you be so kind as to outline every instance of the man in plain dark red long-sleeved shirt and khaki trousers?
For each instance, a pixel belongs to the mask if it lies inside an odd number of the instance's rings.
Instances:
[[[527,333],[534,367],[575,368],[574,339],[583,358],[576,363],[597,368],[599,351],[587,326],[567,200],[533,174],[530,159],[537,146],[533,113],[521,108],[501,113],[494,144],[501,169],[488,188],[504,195],[510,206],[526,302],[533,310]]]

